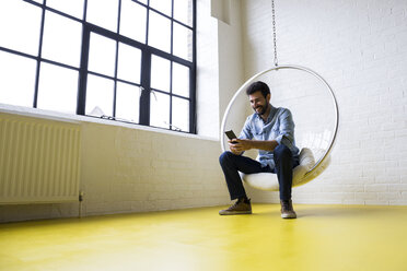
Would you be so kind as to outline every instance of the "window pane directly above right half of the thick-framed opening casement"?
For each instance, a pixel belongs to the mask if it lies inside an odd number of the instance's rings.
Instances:
[[[147,9],[131,0],[121,1],[120,34],[146,44]]]

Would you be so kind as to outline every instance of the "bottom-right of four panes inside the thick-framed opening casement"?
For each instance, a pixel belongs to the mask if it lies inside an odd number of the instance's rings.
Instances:
[[[139,122],[140,89],[125,83],[117,83],[116,117],[131,122]]]

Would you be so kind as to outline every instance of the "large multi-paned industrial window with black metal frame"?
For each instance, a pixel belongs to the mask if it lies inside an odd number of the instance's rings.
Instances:
[[[0,103],[195,133],[195,7],[0,1]]]

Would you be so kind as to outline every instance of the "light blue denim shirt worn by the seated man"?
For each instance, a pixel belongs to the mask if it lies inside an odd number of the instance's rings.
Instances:
[[[266,121],[257,114],[247,117],[246,122],[242,129],[240,139],[253,140],[276,140],[279,144],[284,144],[290,149],[294,158],[298,158],[299,149],[295,146],[294,140],[294,121],[289,109],[281,107],[274,107]],[[259,150],[257,161],[261,166],[269,166],[275,168],[275,160],[272,152]]]

